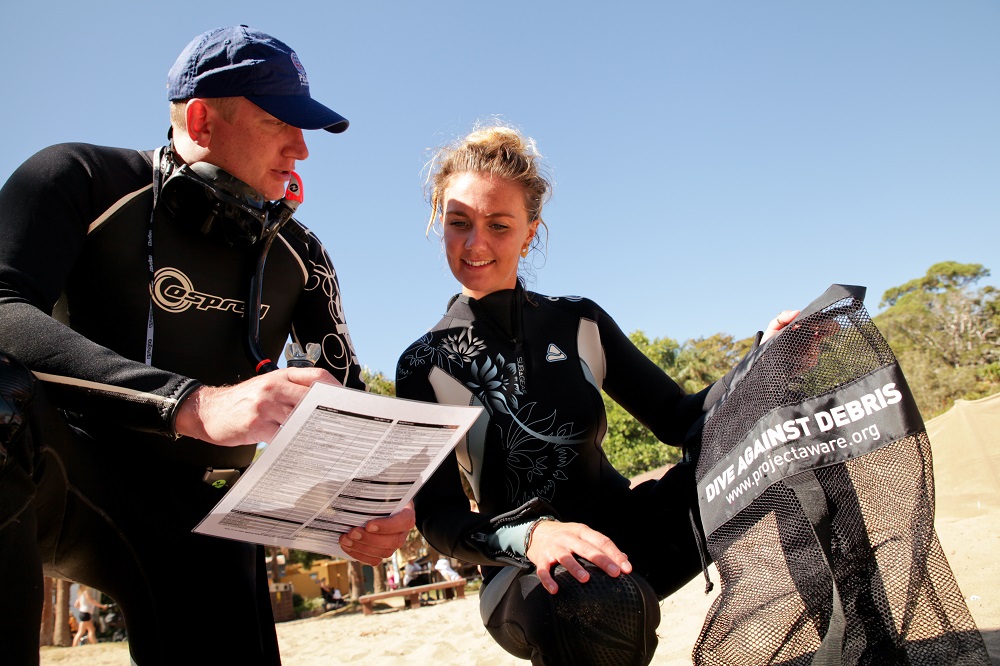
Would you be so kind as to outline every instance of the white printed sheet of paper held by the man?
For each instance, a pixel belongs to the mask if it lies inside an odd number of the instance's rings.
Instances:
[[[481,411],[314,384],[194,531],[348,557],[340,535],[409,502]]]

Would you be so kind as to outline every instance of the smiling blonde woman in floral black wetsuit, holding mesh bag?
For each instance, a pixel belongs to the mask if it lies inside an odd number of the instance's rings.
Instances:
[[[417,526],[437,550],[483,567],[483,621],[508,652],[644,664],[658,599],[705,566],[694,465],[630,490],[601,449],[601,389],[682,445],[723,386],[685,395],[597,304],[524,289],[518,267],[540,246],[550,193],[538,162],[530,139],[491,127],[433,163],[428,229],[441,220],[462,293],[402,354],[396,391],[484,412],[418,493]],[[779,315],[768,335],[795,314]]]

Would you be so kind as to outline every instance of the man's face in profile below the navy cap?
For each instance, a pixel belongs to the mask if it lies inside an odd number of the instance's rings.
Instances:
[[[209,114],[212,132],[205,161],[225,169],[265,199],[281,199],[295,161],[309,157],[302,130],[242,97],[229,120],[211,105]]]

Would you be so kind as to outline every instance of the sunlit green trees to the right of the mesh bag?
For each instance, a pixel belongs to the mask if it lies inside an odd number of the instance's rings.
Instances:
[[[899,359],[925,419],[956,399],[1000,391],[1000,298],[973,289],[990,272],[980,264],[934,264],[926,275],[885,292],[875,323]]]

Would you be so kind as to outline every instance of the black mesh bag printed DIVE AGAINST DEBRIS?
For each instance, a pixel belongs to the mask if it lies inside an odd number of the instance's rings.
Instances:
[[[722,587],[698,666],[989,666],[934,531],[923,421],[864,294],[831,286],[705,415],[696,479]]]

